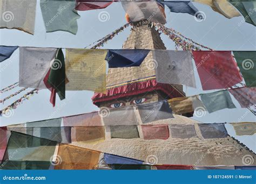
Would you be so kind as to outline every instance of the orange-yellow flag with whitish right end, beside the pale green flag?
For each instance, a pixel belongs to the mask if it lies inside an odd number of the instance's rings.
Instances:
[[[185,114],[187,112],[193,112],[196,109],[206,110],[204,104],[199,100],[198,95],[189,97],[171,98],[168,100],[171,109],[175,114]]]

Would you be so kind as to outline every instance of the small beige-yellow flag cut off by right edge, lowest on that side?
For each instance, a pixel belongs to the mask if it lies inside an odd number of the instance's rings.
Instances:
[[[256,133],[255,122],[231,123],[238,136],[254,135]]]

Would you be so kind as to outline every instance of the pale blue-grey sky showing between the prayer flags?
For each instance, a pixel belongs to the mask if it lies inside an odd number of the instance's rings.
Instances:
[[[193,16],[185,13],[172,13],[169,9],[166,12],[166,27],[172,27],[174,30],[182,33],[185,37],[202,45],[213,48],[218,51],[255,51],[256,50],[256,29],[253,25],[243,23],[244,18],[234,17],[227,19],[219,13],[213,11],[210,6],[193,2],[199,11],[205,13],[205,20],[197,22]],[[104,12],[103,12],[104,11]],[[68,32],[57,31],[52,33],[45,32],[43,17],[37,0],[35,34],[18,30],[0,29],[0,45],[6,46],[30,46],[30,47],[62,47],[62,48],[84,48],[94,41],[106,36],[118,27],[126,23],[125,11],[119,2],[112,3],[103,10],[78,11],[80,18],[77,20],[78,32],[73,35]],[[99,18],[99,13],[105,13],[107,19],[105,22]],[[105,49],[121,49],[122,44],[130,34],[130,27],[119,33],[112,40],[104,45]],[[174,50],[174,43],[164,34],[161,38],[167,49]],[[19,80],[19,50],[17,49],[11,58],[0,63],[0,89],[9,86]],[[186,96],[197,95],[200,93],[210,93],[203,91],[200,85],[198,73],[196,75],[197,89],[186,88]],[[9,96],[22,88],[15,88],[8,93],[0,96],[0,99]],[[23,94],[32,89],[27,89],[21,94],[10,98],[4,104],[0,104],[0,109],[5,108],[17,100]],[[92,91],[66,91],[66,99],[59,101],[56,98],[56,107],[53,108],[49,102],[50,91],[48,89],[40,90],[38,94],[32,96],[29,100],[18,105],[17,109],[12,111],[10,117],[0,117],[0,126],[18,124],[43,119],[57,118],[63,116],[83,114],[98,110],[92,104]],[[255,116],[248,109],[240,108],[239,103],[232,97],[237,109],[223,109],[211,114],[206,113],[203,117],[192,117],[203,123],[232,123],[232,122],[255,122]],[[247,145],[256,152],[256,135],[254,136],[236,136],[233,127],[226,124],[228,133]]]

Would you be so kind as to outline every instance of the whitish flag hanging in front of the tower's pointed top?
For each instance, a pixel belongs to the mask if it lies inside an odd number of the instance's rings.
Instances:
[[[122,1],[122,6],[129,15],[131,22],[150,19],[150,22],[165,24],[166,19],[157,2],[127,2]],[[154,16],[152,16],[154,15]]]

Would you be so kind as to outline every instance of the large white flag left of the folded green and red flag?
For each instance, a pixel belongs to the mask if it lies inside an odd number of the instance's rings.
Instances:
[[[45,89],[44,77],[57,48],[19,47],[19,86]]]

